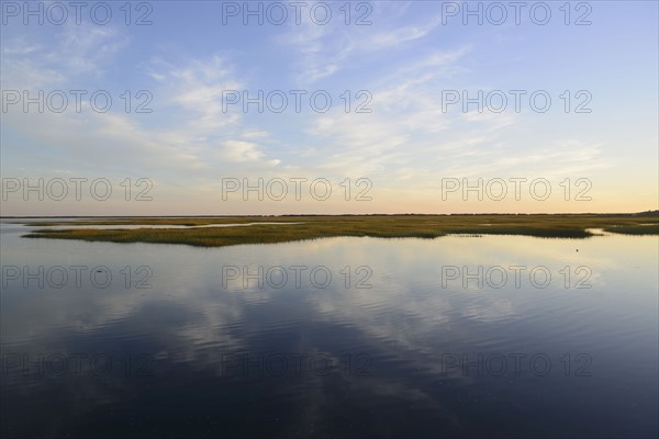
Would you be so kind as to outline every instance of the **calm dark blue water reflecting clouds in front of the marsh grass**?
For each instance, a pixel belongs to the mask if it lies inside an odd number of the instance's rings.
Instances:
[[[1,225],[2,437],[657,437],[658,238]]]

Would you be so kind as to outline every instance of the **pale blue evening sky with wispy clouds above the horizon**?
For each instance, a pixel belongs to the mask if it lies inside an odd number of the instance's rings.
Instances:
[[[656,1],[0,3],[3,216],[659,209]]]

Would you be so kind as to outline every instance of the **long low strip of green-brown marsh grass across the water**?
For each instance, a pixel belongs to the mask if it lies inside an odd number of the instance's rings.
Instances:
[[[49,225],[150,225],[199,226],[205,224],[263,224],[247,227],[170,228],[170,229],[38,229],[31,238],[82,239],[112,243],[187,244],[222,247],[238,244],[287,243],[334,236],[371,236],[381,238],[435,238],[447,234],[526,235],[539,237],[585,238],[587,228],[606,232],[659,235],[659,217],[636,215],[343,215],[343,216],[242,216],[196,218],[109,218],[104,221],[30,223]],[[650,223],[650,225],[647,225]],[[487,225],[485,225],[487,224]]]

